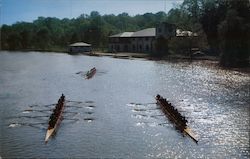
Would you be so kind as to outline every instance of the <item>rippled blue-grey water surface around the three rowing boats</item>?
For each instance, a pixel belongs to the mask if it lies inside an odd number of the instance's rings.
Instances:
[[[97,73],[84,79],[92,67]],[[45,144],[62,93],[64,120]],[[176,131],[156,94],[187,117],[198,144]],[[202,62],[2,51],[0,156],[249,158],[249,94],[249,73]]]

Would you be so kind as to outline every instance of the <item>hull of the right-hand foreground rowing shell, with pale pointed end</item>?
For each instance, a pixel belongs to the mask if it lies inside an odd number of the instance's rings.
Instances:
[[[198,140],[196,139],[194,133],[189,127],[185,127],[184,129],[182,128],[180,122],[177,121],[177,119],[165,108],[165,105],[156,98],[157,104],[161,106],[163,112],[165,115],[168,116],[168,118],[175,123],[176,128],[187,134],[191,139],[193,139],[196,143],[198,143]]]

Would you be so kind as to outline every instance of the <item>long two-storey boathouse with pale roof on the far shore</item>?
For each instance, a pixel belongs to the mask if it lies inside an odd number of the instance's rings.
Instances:
[[[137,32],[123,32],[109,36],[109,51],[156,52],[157,39],[169,39],[175,35],[176,27],[169,23],[161,23],[156,28],[147,28]]]

